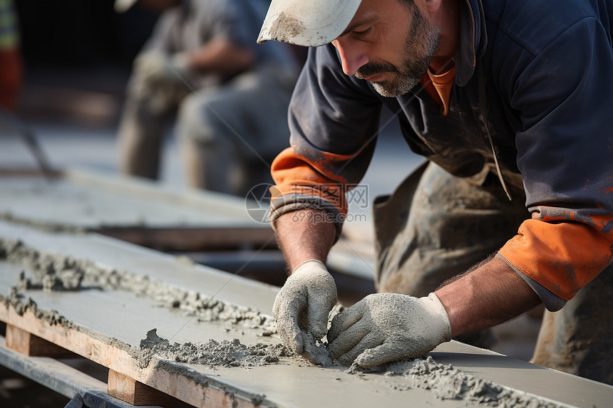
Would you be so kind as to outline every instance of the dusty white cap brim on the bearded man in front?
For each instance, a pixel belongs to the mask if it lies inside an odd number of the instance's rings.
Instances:
[[[272,0],[258,43],[283,41],[316,47],[330,43],[349,26],[361,0]]]

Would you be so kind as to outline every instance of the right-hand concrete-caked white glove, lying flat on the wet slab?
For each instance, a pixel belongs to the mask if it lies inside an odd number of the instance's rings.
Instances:
[[[374,367],[421,357],[449,340],[449,318],[434,293],[376,293],[334,316],[328,350],[343,364]]]

